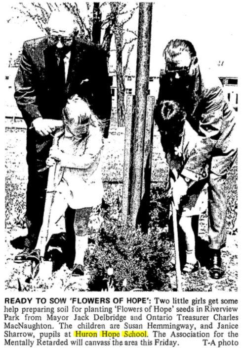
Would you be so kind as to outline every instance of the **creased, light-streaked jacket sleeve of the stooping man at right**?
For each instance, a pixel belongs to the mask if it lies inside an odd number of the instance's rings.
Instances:
[[[188,158],[182,175],[192,180],[199,180],[200,175],[208,163],[211,152],[216,145],[220,135],[223,123],[224,95],[222,88],[216,86],[211,88],[205,94],[202,115],[199,119],[200,141]]]

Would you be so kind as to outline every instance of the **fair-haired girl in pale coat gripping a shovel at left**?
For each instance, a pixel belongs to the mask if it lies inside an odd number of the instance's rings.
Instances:
[[[63,110],[64,134],[52,146],[47,165],[57,162],[51,224],[65,214],[66,233],[75,232],[76,255],[73,276],[84,274],[84,252],[92,207],[101,204],[104,190],[101,173],[103,136],[99,120],[78,95]],[[74,229],[74,231],[73,231]],[[51,235],[48,235],[48,240]],[[38,244],[36,249],[38,249]]]

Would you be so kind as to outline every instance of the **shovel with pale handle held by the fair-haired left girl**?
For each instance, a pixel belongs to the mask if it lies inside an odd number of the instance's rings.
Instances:
[[[58,145],[60,136],[63,134],[63,130],[59,130],[55,133],[53,139],[53,146]],[[48,240],[49,229],[51,228],[50,216],[51,208],[54,200],[55,194],[55,174],[56,174],[56,164],[49,168],[47,188],[46,188],[46,198],[44,205],[43,222],[40,229],[40,234],[38,238],[38,249],[40,250],[40,258],[32,259],[31,262],[31,279],[35,279],[37,275],[40,279],[48,279],[52,275],[52,262],[44,261],[44,253]]]

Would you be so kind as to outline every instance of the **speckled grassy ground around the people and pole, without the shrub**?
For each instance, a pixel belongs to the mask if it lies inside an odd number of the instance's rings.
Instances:
[[[31,273],[31,265],[15,264],[14,256],[20,251],[14,249],[10,240],[19,235],[27,233],[27,230],[22,222],[25,210],[25,190],[27,184],[27,166],[25,161],[26,156],[26,130],[21,128],[22,121],[17,122],[14,126],[8,121],[6,124],[6,142],[5,142],[5,166],[6,166],[6,196],[5,196],[5,284],[6,290],[88,290],[88,272],[84,277],[76,281],[71,277],[71,271],[64,265],[59,271],[51,275],[51,265],[45,262],[41,266],[40,277],[37,277],[30,284],[28,277]],[[20,125],[20,127],[19,127]],[[121,199],[121,180],[123,171],[123,151],[124,151],[124,129],[113,127],[111,130],[108,142],[105,144],[104,151],[104,169],[103,179],[105,185],[105,200],[110,205]],[[155,131],[154,147],[153,147],[153,163],[152,163],[152,187],[153,200],[155,200],[156,209],[151,212],[152,229],[155,233],[162,234],[166,238],[167,227],[159,226],[159,209],[162,209],[162,204],[159,198],[159,190],[156,187],[163,185],[166,176],[164,159],[162,156],[159,134]],[[160,182],[157,182],[160,181]],[[158,194],[154,194],[158,192]],[[234,221],[237,209],[237,166],[232,169],[228,185],[227,185],[229,211],[227,221],[228,242],[227,246],[222,251],[222,257],[226,267],[226,275],[219,281],[211,280],[205,267],[202,267],[196,274],[182,276],[183,291],[237,291],[238,277],[238,244],[237,234],[235,232]],[[154,203],[154,202],[153,202]],[[119,209],[112,210],[111,218],[119,218]],[[159,215],[160,214],[160,215]],[[95,217],[94,217],[95,220]],[[95,221],[93,222],[95,223]],[[24,227],[24,228],[23,228]],[[60,228],[62,228],[60,226]],[[200,221],[201,236],[206,238],[206,215],[203,215]],[[168,238],[168,234],[167,234]],[[90,246],[90,249],[93,246]],[[172,261],[174,250],[171,243],[169,249],[170,260]],[[88,269],[88,267],[87,267]],[[175,289],[175,272],[170,269],[165,276],[166,285],[161,290]],[[27,283],[26,283],[27,280]],[[124,280],[125,283],[125,280]],[[125,287],[124,287],[125,288]],[[110,288],[111,290],[111,288]]]

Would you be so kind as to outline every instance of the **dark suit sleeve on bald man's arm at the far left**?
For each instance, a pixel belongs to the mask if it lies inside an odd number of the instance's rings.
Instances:
[[[15,78],[14,98],[27,126],[30,126],[35,118],[41,117],[36,102],[33,70],[33,61],[28,53],[27,45],[24,43],[22,59]]]

